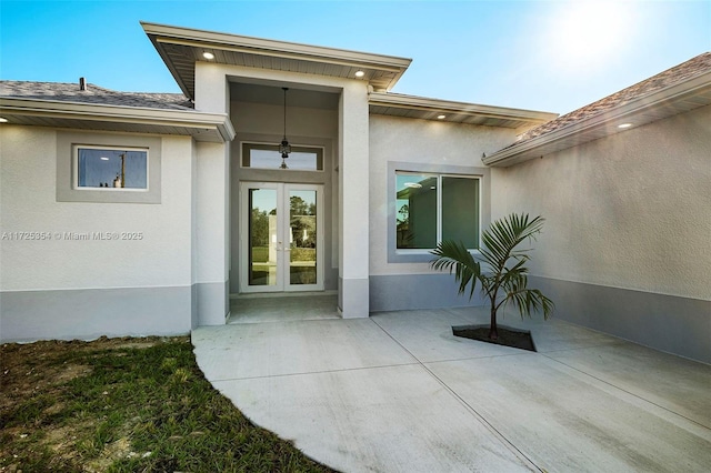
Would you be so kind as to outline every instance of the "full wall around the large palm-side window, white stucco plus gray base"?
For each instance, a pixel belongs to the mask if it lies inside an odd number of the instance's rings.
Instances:
[[[465,298],[458,298],[455,291],[451,291],[454,288],[451,278],[433,272],[428,262],[389,261],[389,244],[394,244],[388,241],[389,215],[393,212],[388,195],[389,180],[394,180],[392,163],[434,165],[440,172],[453,168],[475,169],[487,173],[489,182],[483,185],[488,192],[497,185],[499,173],[491,173],[483,165],[482,153],[499,150],[514,138],[514,130],[504,128],[370,115],[371,310],[468,304]],[[481,213],[485,227],[491,203],[487,195],[483,201]]]

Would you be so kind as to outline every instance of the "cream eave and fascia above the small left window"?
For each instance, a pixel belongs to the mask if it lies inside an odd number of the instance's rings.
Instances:
[[[38,117],[48,123],[59,120],[80,120],[84,123],[103,123],[97,129],[106,130],[107,123],[131,123],[142,125],[147,132],[160,127],[186,130],[198,141],[231,141],[236,132],[229,117],[223,113],[204,113],[188,110],[148,109],[54,100],[0,98],[0,115]],[[12,123],[12,120],[10,120]],[[181,133],[182,134],[182,133]]]

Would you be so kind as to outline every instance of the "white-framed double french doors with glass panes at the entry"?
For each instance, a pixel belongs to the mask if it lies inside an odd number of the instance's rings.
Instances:
[[[241,292],[323,290],[323,187],[240,183]]]

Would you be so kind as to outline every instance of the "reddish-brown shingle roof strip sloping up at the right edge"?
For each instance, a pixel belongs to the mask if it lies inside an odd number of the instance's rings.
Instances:
[[[543,123],[540,127],[521,133],[517,138],[515,143],[507,148],[518,145],[533,138],[575,124],[591,117],[604,113],[615,107],[624,105],[632,100],[641,99],[644,95],[649,95],[661,89],[665,89],[678,82],[689,80],[695,76],[709,71],[711,71],[711,52],[704,52],[697,56],[695,58],[690,59],[687,62],[682,62],[681,64],[660,72],[657,76],[643,80],[642,82],[635,83],[634,85],[628,87],[627,89],[613,93],[612,95],[608,95],[604,99],[598,100],[597,102],[593,102],[581,109],[559,117],[555,120],[551,120],[548,123]]]

